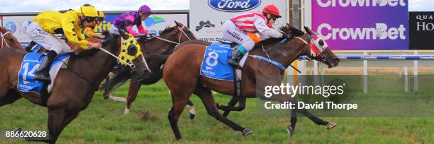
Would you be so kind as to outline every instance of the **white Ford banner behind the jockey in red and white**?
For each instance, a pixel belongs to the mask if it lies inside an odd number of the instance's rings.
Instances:
[[[277,19],[274,28],[280,28],[289,22],[288,0],[190,0],[190,29],[199,40],[216,42],[222,40],[223,23],[242,13],[262,11],[262,8],[274,4],[279,8],[282,18]]]

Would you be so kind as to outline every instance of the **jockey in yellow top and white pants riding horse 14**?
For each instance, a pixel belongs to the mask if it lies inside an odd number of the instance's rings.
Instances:
[[[95,24],[98,12],[89,4],[80,6],[78,11],[69,10],[61,13],[59,11],[44,11],[30,20],[26,28],[27,37],[37,42],[48,50],[47,56],[39,66],[35,80],[50,80],[48,69],[57,54],[67,53],[70,48],[65,41],[60,40],[53,34],[65,34],[69,42],[79,44],[82,49],[89,47],[101,47],[101,43],[94,43],[84,40],[82,28],[89,28]]]

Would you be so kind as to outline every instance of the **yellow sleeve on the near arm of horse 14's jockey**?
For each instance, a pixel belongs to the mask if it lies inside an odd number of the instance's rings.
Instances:
[[[84,40],[84,35],[81,32],[82,29],[80,28],[79,30],[76,30],[76,28],[74,28],[74,21],[76,18],[77,17],[74,16],[66,16],[62,19],[63,32],[65,33],[65,37],[67,37],[69,42],[79,44],[83,49],[87,49],[89,48],[89,42]]]

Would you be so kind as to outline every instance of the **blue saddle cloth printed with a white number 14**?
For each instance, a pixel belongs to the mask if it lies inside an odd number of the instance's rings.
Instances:
[[[55,60],[52,61],[50,68],[65,61],[70,56],[70,53],[57,55]],[[18,72],[18,90],[21,92],[36,92],[39,95],[41,94],[44,82],[35,80],[34,76],[44,58],[45,54],[32,52],[24,56],[20,71]]]

